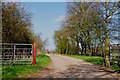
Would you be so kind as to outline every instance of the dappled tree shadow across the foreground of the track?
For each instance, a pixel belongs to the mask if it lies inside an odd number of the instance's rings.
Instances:
[[[82,67],[81,67],[82,66]],[[116,78],[111,72],[86,65],[70,65],[67,70],[52,72],[51,78]]]

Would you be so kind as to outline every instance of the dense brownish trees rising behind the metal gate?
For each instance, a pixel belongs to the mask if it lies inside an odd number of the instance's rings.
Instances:
[[[31,13],[19,3],[2,3],[2,42],[32,44],[34,41],[37,49],[42,50],[41,36],[32,32]]]

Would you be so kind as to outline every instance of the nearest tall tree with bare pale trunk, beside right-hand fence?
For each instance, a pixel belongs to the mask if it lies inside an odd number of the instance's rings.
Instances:
[[[113,23],[112,20],[114,20],[115,15],[118,15],[120,12],[120,2],[101,2],[98,11],[100,13],[100,16],[102,17],[104,23],[105,23],[105,65],[107,67],[110,67],[110,37],[109,37],[109,31],[110,26]],[[115,25],[114,25],[115,27]]]

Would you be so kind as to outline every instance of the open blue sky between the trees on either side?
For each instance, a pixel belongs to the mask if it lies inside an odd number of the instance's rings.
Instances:
[[[25,2],[23,5],[32,13],[33,32],[41,33],[43,40],[48,38],[47,49],[55,49],[54,31],[60,29],[60,21],[66,14],[65,2]]]

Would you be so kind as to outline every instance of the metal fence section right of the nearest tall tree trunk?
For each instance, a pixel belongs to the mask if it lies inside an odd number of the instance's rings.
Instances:
[[[113,44],[110,46],[110,57],[112,64],[118,64],[120,66],[120,44]]]

